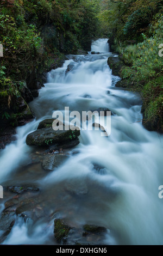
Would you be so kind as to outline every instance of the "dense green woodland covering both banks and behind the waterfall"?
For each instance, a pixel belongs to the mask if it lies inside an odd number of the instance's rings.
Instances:
[[[97,38],[108,38],[123,61],[122,80],[142,96],[147,129],[162,131],[162,7],[162,0],[0,0],[1,131],[32,118],[28,102],[46,72]]]

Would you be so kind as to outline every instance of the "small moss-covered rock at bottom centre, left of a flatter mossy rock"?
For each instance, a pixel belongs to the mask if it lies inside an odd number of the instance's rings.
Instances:
[[[67,224],[65,224],[60,219],[54,220],[54,237],[58,242],[61,242],[61,240],[68,235],[70,232],[71,227],[69,227]]]

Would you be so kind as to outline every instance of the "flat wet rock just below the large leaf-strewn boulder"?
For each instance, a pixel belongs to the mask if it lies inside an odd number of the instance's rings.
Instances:
[[[60,166],[62,162],[67,159],[68,156],[60,154],[48,154],[42,161],[42,167],[45,170],[54,170]]]

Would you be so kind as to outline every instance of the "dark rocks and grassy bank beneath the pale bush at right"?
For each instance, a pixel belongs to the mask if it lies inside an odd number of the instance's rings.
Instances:
[[[142,99],[142,125],[148,131],[157,131],[158,133],[163,132],[163,112],[162,106],[160,105],[161,99],[161,86],[162,86],[162,75],[151,78],[151,81],[138,82],[134,80],[134,73],[136,70],[131,70],[130,75],[126,77],[125,72],[129,69],[129,66],[124,62],[124,57],[121,53],[117,54],[117,57],[109,57],[108,65],[112,69],[112,74],[119,76],[120,81],[116,83],[116,87],[126,88],[131,92],[137,92],[140,94]],[[160,99],[159,99],[160,98]],[[154,102],[155,108],[153,107]]]

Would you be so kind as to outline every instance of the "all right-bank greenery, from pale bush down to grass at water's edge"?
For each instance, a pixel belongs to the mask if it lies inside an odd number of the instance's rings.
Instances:
[[[151,37],[142,34],[143,42],[127,47],[119,46],[121,58],[128,66],[122,77],[134,84],[143,100],[143,123],[148,130],[163,130],[163,57],[159,56],[159,45],[163,41],[163,15],[155,17]]]

